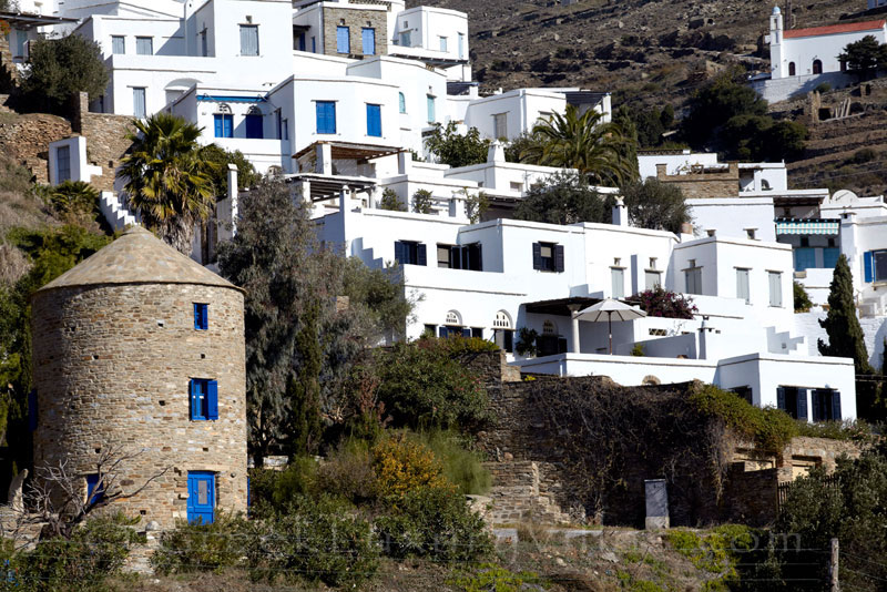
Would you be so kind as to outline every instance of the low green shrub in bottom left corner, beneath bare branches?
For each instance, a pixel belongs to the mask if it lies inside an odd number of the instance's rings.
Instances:
[[[70,540],[49,539],[12,557],[12,590],[98,590],[119,573],[130,547],[144,542],[132,527],[139,520],[112,514],[88,520]],[[9,550],[8,550],[9,551]]]

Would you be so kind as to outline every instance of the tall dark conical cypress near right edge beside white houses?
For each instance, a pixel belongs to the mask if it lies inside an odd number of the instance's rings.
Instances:
[[[819,354],[853,358],[856,374],[873,374],[863,328],[856,317],[853,273],[845,255],[840,255],[835,265],[828,293],[828,314],[819,320],[819,326],[828,334],[827,344],[818,340]]]

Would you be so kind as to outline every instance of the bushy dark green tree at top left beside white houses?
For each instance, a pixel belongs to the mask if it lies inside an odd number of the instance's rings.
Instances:
[[[98,99],[108,81],[99,43],[69,34],[31,44],[22,90],[34,108],[59,113],[72,94],[85,92]]]

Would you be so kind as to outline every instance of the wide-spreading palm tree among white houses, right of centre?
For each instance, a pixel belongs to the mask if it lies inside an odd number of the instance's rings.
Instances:
[[[564,114],[554,113],[533,127],[539,140],[521,153],[521,162],[577,169],[597,184],[633,181],[632,139],[619,124],[602,120],[593,109],[580,115],[575,105],[567,105]]]

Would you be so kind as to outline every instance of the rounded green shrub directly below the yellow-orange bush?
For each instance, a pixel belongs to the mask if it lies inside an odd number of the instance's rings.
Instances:
[[[387,555],[477,561],[492,553],[492,538],[465,496],[447,489],[414,489],[388,507],[391,512],[376,520]]]

